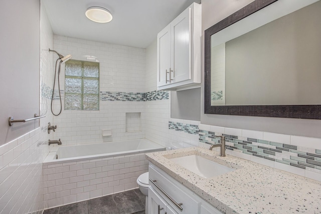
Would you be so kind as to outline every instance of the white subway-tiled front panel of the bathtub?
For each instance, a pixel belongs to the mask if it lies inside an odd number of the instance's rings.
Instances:
[[[148,171],[145,154],[43,164],[44,207],[51,208],[137,188]]]

